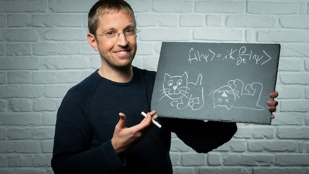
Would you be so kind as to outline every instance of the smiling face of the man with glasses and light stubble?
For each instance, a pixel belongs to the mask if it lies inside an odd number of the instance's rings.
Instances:
[[[102,65],[106,68],[129,67],[136,53],[136,37],[125,36],[123,32],[135,31],[133,18],[122,11],[105,13],[100,17],[97,29],[97,49]],[[100,36],[109,32],[121,33],[115,37]]]

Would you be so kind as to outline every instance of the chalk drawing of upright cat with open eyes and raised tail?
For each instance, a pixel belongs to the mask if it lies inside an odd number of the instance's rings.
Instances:
[[[170,76],[165,73],[163,82],[163,95],[160,100],[167,96],[172,100],[171,106],[177,109],[190,107],[192,110],[201,109],[204,105],[202,74],[198,75],[196,83],[188,82],[188,74],[184,72],[181,76]],[[192,92],[197,89],[200,92]],[[160,101],[159,100],[159,101]]]

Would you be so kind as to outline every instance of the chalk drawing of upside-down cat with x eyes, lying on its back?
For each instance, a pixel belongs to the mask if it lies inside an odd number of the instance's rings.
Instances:
[[[241,80],[230,80],[227,85],[218,89],[210,90],[213,99],[213,107],[243,108],[253,110],[264,110],[264,107],[259,105],[260,96],[263,90],[263,85],[258,82],[252,84],[244,83]],[[209,96],[208,95],[208,96]],[[246,98],[246,99],[245,99]],[[240,102],[241,100],[253,102]]]

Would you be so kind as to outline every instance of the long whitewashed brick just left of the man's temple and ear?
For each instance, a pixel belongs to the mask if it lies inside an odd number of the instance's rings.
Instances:
[[[86,41],[86,29],[52,29],[44,33],[45,40],[51,41]]]

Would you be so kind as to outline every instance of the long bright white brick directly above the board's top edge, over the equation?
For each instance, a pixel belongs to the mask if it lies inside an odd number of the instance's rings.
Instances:
[[[233,29],[194,29],[193,38],[207,41],[242,41],[243,31]]]

